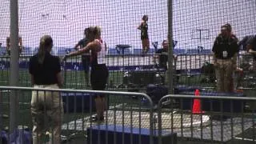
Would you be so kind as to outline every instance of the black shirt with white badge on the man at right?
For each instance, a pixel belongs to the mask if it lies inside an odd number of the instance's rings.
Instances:
[[[238,38],[234,35],[230,38],[224,38],[220,34],[215,39],[212,51],[218,59],[230,59],[239,52]]]

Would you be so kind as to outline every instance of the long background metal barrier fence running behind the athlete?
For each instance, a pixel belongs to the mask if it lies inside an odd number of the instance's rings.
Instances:
[[[166,71],[159,68],[154,57],[158,54],[111,55],[106,65],[110,70],[108,90],[144,91],[148,84],[166,85]],[[20,86],[30,86],[28,73],[29,56],[20,57]],[[157,60],[156,60],[157,61]],[[234,70],[234,85],[240,88],[255,88],[255,64],[252,55],[238,55],[238,70]],[[0,83],[9,85],[10,57],[0,57]],[[211,54],[178,54],[174,62],[175,85],[201,86],[214,89],[215,74]],[[81,58],[70,58],[63,63],[65,86],[70,89],[90,89],[86,85]]]

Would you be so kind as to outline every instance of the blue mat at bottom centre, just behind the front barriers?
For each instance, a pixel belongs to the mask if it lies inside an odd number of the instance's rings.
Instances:
[[[150,130],[145,128],[139,129],[127,126],[99,125],[88,128],[87,132],[87,143],[90,143],[91,137],[92,143],[105,144],[106,135],[108,143],[139,143],[139,138],[141,138],[141,143],[150,143]],[[154,130],[153,141],[154,144],[158,144],[158,130]],[[162,144],[176,144],[176,142],[177,134],[171,134],[170,132],[162,130]]]

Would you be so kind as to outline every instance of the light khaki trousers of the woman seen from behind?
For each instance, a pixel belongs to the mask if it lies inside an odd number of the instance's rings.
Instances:
[[[34,88],[58,89],[57,85],[40,85]],[[33,144],[43,143],[49,133],[50,143],[61,143],[63,103],[59,92],[33,91],[31,99]]]

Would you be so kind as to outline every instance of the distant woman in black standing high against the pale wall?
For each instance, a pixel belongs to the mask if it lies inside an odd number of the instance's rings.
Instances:
[[[142,23],[138,26],[138,30],[141,30],[141,39],[142,39],[142,54],[146,54],[150,50],[150,40],[148,30],[148,15],[143,15]]]

